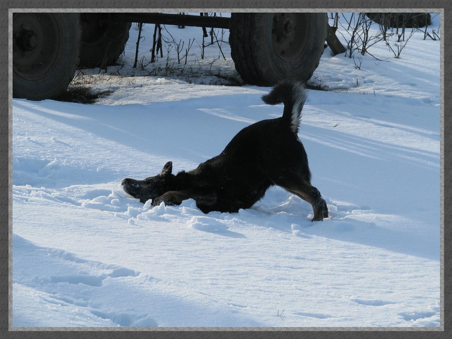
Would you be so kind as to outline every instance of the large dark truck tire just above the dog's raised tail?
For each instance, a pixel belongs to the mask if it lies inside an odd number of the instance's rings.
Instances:
[[[319,66],[328,34],[326,13],[232,13],[229,42],[245,83],[306,82]]]

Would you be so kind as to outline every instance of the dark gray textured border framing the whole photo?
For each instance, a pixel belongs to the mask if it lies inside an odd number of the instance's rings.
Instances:
[[[227,1],[227,2],[226,2]],[[226,1],[161,1],[155,0],[152,1],[152,9],[147,9],[147,11],[185,11],[185,12],[201,12],[201,11],[209,11],[209,12],[273,12],[273,11],[300,11],[300,12],[345,12],[345,11],[364,11],[363,8],[359,8],[360,5],[365,5],[362,1],[356,0],[326,0],[322,1],[320,5],[325,8],[315,8],[318,3],[316,1],[279,1],[278,7],[272,4],[272,1],[262,0],[262,1],[249,1],[246,4],[240,3],[240,1],[236,0],[226,0]],[[450,99],[444,97],[444,93],[451,93],[450,84],[444,82],[444,76],[447,75],[447,78],[450,79],[450,62],[444,62],[444,56],[449,56],[450,53],[450,37],[447,37],[444,32],[445,21],[449,21],[445,16],[447,14],[451,14],[449,10],[450,5],[447,3],[447,0],[432,0],[432,1],[399,1],[398,3],[394,3],[393,1],[385,0],[379,1],[378,5],[380,8],[372,8],[367,11],[377,12],[377,11],[387,11],[387,12],[395,12],[395,11],[428,11],[428,12],[438,12],[441,14],[441,24],[440,30],[442,32],[442,41],[440,45],[440,136],[441,136],[441,146],[440,146],[440,284],[441,284],[441,292],[440,292],[440,322],[441,326],[438,328],[406,328],[406,327],[394,327],[394,328],[374,328],[374,327],[166,327],[166,328],[112,328],[112,327],[88,327],[88,328],[74,328],[74,327],[48,327],[48,328],[20,328],[20,327],[12,327],[12,58],[11,58],[11,50],[12,43],[9,41],[8,37],[11,36],[11,18],[13,11],[60,11],[60,12],[68,12],[68,11],[76,11],[83,12],[86,11],[86,8],[89,7],[89,11],[93,11],[96,9],[108,10],[108,11],[133,11],[139,8],[141,11],[146,11],[146,8],[149,7],[150,3],[142,0],[132,0],[132,1],[112,1],[112,0],[75,0],[71,1],[68,4],[62,5],[59,1],[56,0],[39,0],[33,3],[33,8],[28,5],[28,1],[19,0],[19,1],[10,1],[7,0],[6,3],[2,6],[5,8],[3,15],[0,19],[0,27],[4,28],[3,32],[6,32],[8,29],[8,35],[4,36],[1,39],[1,45],[5,48],[1,49],[3,64],[8,67],[1,68],[1,74],[8,74],[8,86],[6,86],[5,82],[1,90],[1,98],[8,100],[8,106],[2,105],[2,114],[5,113],[3,124],[0,124],[0,135],[6,136],[8,138],[1,138],[1,161],[0,168],[3,170],[8,169],[8,176],[2,176],[0,179],[0,187],[8,189],[7,197],[2,197],[1,206],[4,208],[0,209],[0,214],[2,220],[8,220],[8,229],[4,227],[2,229],[2,236],[0,240],[2,241],[2,245],[0,246],[0,254],[2,260],[2,270],[1,274],[4,279],[1,279],[1,310],[5,317],[0,319],[0,328],[7,330],[8,337],[33,337],[33,338],[48,338],[48,337],[58,337],[58,338],[66,338],[66,337],[87,337],[94,335],[96,337],[111,337],[111,336],[119,336],[119,337],[138,337],[142,335],[152,335],[153,337],[167,338],[167,337],[182,337],[182,338],[190,338],[190,337],[204,337],[207,336],[209,338],[223,338],[223,337],[264,337],[268,336],[283,336],[285,338],[295,338],[300,337],[301,335],[309,337],[318,337],[318,338],[341,338],[341,337],[349,337],[349,336],[387,336],[387,337],[424,337],[424,336],[432,336],[432,337],[447,337],[447,332],[449,332],[448,326],[445,324],[450,324],[450,316],[445,314],[445,311],[448,310],[448,306],[450,306],[450,296],[448,290],[450,287],[450,278],[445,276],[445,272],[450,272],[451,266],[449,261],[445,261],[446,256],[450,254],[451,245],[445,242],[445,239],[450,239],[448,236],[448,230],[444,229],[444,220],[445,213],[447,216],[450,216],[451,206],[450,204],[445,203],[445,198],[449,195],[444,194],[445,185],[444,183],[450,182],[447,180],[447,175],[450,171],[445,171],[445,166],[450,164],[451,156],[444,152],[445,146],[449,146],[450,144],[450,136],[446,135],[444,131],[444,126],[450,126],[448,122],[450,122],[450,115],[445,116],[444,112],[444,104],[449,107]],[[71,6],[69,6],[71,5]],[[125,5],[125,6],[124,6]],[[189,6],[191,5],[191,6]],[[246,6],[245,6],[246,5]],[[373,5],[373,4],[372,4]],[[386,5],[386,7],[385,7]],[[390,8],[392,5],[399,5],[398,9]],[[125,7],[133,6],[134,9],[124,9]],[[337,8],[341,6],[342,8]],[[429,8],[434,6],[435,8]],[[165,8],[163,8],[165,7]],[[187,8],[190,7],[190,8]],[[221,8],[218,8],[221,7]],[[226,9],[224,9],[226,7]],[[260,7],[260,8],[259,8]],[[273,7],[273,8],[272,8]],[[301,9],[300,7],[304,7]],[[408,8],[413,7],[413,8]],[[414,8],[415,7],[415,8]],[[59,8],[59,9],[54,9]],[[450,21],[449,21],[450,23]],[[450,27],[447,25],[447,27]],[[8,46],[8,49],[6,49]],[[8,52],[6,52],[8,51]],[[446,54],[445,54],[446,52]],[[6,64],[6,55],[8,54],[8,64]],[[7,109],[6,109],[7,107]],[[6,119],[6,112],[8,112],[8,120]],[[6,124],[5,122],[8,121]],[[447,164],[445,163],[447,162]],[[445,181],[446,180],[446,181]],[[8,251],[8,252],[7,252]],[[6,259],[9,260],[6,260]],[[445,284],[446,282],[446,284]],[[446,293],[445,293],[446,292]],[[8,298],[7,298],[8,296]],[[8,307],[11,306],[11,307]],[[8,315],[8,316],[6,316]],[[141,332],[140,332],[141,331]],[[251,332],[250,332],[251,331]]]

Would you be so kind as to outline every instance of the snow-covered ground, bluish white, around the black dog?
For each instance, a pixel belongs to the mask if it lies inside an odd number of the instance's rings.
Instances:
[[[237,76],[227,43],[226,61],[217,45],[197,60],[201,28],[168,29],[196,37],[186,68],[201,76],[126,76],[132,26],[127,64],[92,71],[113,91],[96,104],[13,100],[13,326],[439,326],[439,41],[417,32],[400,59],[381,42],[386,60],[361,69],[326,48],[313,80],[335,90],[309,90],[299,134],[330,211],[312,223],[281,188],[207,215],[122,191],[282,115],[269,88],[208,85]]]

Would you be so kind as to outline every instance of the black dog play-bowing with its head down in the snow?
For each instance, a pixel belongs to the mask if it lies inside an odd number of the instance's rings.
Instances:
[[[306,92],[300,83],[284,81],[264,95],[266,104],[284,103],[281,118],[262,120],[238,132],[220,155],[189,172],[171,174],[172,162],[160,174],[144,180],[126,178],[122,189],[141,202],[179,205],[193,198],[204,212],[238,212],[264,197],[278,185],[306,200],[314,209],[312,221],[328,217],[328,208],[311,186],[306,151],[298,139],[298,125]]]

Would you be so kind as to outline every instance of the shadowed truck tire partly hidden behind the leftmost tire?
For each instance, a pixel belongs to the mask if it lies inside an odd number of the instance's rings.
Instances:
[[[112,66],[124,52],[129,39],[130,22],[113,21],[109,14],[81,13],[83,26],[80,66]]]

